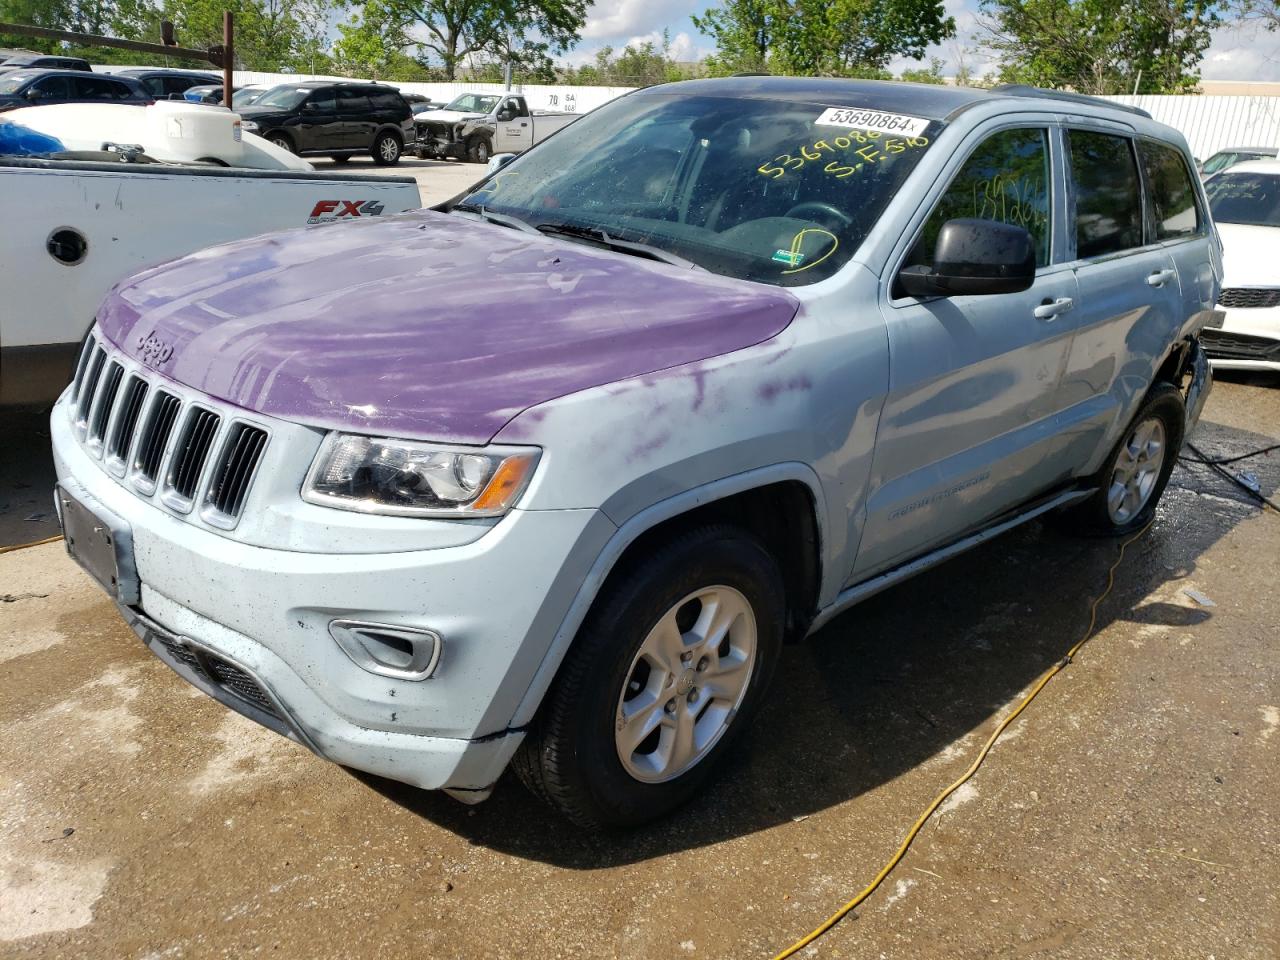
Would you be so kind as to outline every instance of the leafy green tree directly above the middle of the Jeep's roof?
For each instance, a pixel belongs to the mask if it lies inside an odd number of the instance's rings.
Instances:
[[[694,24],[716,41],[716,74],[878,76],[955,36],[942,0],[724,0]]]

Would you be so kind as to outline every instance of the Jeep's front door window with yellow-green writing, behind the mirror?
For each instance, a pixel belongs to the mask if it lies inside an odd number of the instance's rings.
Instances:
[[[947,220],[978,218],[1024,227],[1036,242],[1036,265],[1048,264],[1051,229],[1048,141],[1044,131],[1001,131],[984,140],[960,168],[929,214],[908,264],[933,264]]]

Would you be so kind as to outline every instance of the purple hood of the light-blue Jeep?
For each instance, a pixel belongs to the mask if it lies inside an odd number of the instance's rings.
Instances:
[[[538,403],[767,340],[797,308],[781,289],[421,211],[175,260],[120,283],[99,328],[246,410],[483,444]]]

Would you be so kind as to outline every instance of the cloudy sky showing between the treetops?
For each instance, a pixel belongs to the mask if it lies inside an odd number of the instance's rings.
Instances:
[[[694,27],[690,14],[716,6],[713,0],[595,0],[582,31],[582,42],[566,58],[568,63],[582,64],[595,59],[602,46],[623,47],[627,44],[662,41],[663,29],[671,32],[671,52],[676,60],[700,60],[714,52],[710,38]],[[977,29],[977,0],[946,0],[947,10],[956,18],[956,40],[942,44],[931,56],[942,59],[943,73],[954,73],[957,60],[964,58],[963,42]],[[970,69],[983,72],[984,60],[968,56]],[[895,73],[902,67],[918,65],[911,60],[890,65]],[[1215,35],[1204,61],[1201,64],[1203,79],[1221,81],[1280,81],[1280,35],[1253,27],[1220,29]]]

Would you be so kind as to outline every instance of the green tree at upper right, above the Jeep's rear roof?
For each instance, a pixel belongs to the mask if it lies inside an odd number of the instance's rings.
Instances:
[[[982,0],[1000,79],[1080,93],[1179,93],[1220,22],[1217,0]]]

